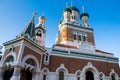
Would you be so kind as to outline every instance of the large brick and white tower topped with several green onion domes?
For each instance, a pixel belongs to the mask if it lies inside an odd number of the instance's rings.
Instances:
[[[82,24],[79,23],[79,16]],[[95,52],[93,29],[88,24],[89,14],[84,12],[84,7],[81,14],[73,5],[66,7],[63,10],[63,17],[64,19],[59,22],[56,45]]]

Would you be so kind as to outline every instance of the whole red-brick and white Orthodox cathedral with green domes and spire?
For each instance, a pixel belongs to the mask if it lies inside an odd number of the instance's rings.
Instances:
[[[46,17],[37,24],[34,18],[35,13],[15,39],[3,43],[0,80],[120,80],[118,58],[96,49],[84,7],[63,10],[52,48],[45,46]]]

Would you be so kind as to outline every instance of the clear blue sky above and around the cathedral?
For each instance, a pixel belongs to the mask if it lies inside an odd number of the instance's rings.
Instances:
[[[46,47],[55,44],[58,22],[63,19],[63,9],[71,0],[0,0],[0,45],[14,39],[22,32],[35,11],[46,17]],[[72,0],[80,10],[84,6],[89,24],[94,29],[96,48],[113,53],[120,59],[120,0]],[[81,23],[81,20],[79,19]],[[3,51],[4,49],[2,49]]]

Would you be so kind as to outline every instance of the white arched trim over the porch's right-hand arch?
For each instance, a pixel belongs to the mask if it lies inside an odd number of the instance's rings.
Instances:
[[[22,60],[22,66],[24,67],[24,65],[26,64],[25,61],[26,61],[27,59],[29,59],[29,58],[35,60],[35,62],[36,62],[36,66],[35,66],[35,67],[36,67],[36,71],[39,71],[39,62],[38,62],[37,58],[36,58],[34,55],[32,55],[32,54],[28,54],[28,55],[26,55],[26,56],[23,58],[23,60]]]

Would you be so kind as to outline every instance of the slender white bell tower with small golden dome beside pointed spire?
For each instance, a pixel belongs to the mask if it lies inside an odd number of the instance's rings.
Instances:
[[[39,17],[39,23],[35,26],[35,40],[41,45],[45,46],[46,27],[44,25],[46,18],[44,16]]]

